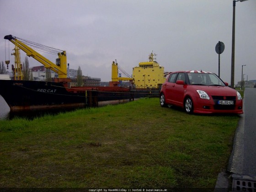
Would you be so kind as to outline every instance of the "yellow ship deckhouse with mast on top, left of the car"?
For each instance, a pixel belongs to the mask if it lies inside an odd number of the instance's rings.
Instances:
[[[148,62],[140,62],[133,68],[133,79],[136,88],[159,88],[165,82],[164,67],[155,60],[153,52]]]

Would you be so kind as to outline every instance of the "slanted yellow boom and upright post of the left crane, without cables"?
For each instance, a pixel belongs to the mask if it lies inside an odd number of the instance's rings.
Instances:
[[[49,68],[53,70],[55,73],[59,75],[59,78],[67,78],[67,57],[66,51],[58,53],[58,59],[56,59],[56,64],[45,58],[40,53],[37,53],[34,49],[27,46],[25,43],[22,43],[16,37],[12,35],[6,35],[4,39],[11,41],[11,43],[15,44],[22,51],[27,53],[28,57],[32,57],[39,61],[41,64],[45,66],[45,68]]]

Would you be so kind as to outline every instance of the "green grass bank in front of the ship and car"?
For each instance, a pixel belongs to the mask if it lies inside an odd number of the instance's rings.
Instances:
[[[158,98],[0,121],[0,187],[208,187],[238,116],[187,115]]]

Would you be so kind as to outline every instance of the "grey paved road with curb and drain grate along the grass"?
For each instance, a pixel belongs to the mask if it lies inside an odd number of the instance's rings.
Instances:
[[[226,173],[220,173],[215,191],[256,191],[256,88],[245,88],[243,111],[236,129]]]

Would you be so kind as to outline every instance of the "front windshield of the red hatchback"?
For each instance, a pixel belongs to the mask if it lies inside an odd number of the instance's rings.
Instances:
[[[225,86],[224,82],[213,73],[187,73],[190,85]]]

